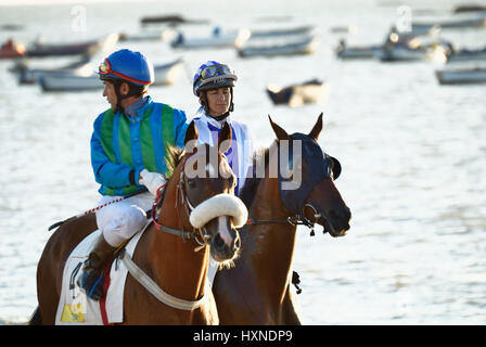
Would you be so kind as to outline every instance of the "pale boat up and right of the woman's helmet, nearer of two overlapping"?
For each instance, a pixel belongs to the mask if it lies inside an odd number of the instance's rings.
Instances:
[[[294,54],[311,54],[315,52],[319,40],[315,36],[307,36],[298,41],[284,41],[282,43],[264,44],[245,44],[238,49],[238,55],[241,57],[250,56],[276,56],[276,55],[294,55]]]

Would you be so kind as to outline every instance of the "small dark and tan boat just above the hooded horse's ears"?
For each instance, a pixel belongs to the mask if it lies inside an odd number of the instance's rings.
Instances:
[[[309,103],[325,104],[329,99],[329,85],[318,79],[285,88],[269,85],[267,94],[274,105],[285,104],[296,107]]]

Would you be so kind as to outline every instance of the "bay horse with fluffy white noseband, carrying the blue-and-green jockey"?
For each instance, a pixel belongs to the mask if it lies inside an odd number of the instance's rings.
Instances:
[[[174,171],[167,182],[156,223],[150,224],[141,235],[132,257],[133,262],[165,293],[191,303],[205,295],[207,299],[195,309],[174,308],[159,301],[132,275],[127,275],[123,324],[218,323],[215,300],[206,287],[209,254],[219,261],[233,259],[240,246],[234,224],[236,220],[244,223],[247,217],[244,204],[234,196],[235,176],[222,154],[223,143],[229,142],[231,137],[231,128],[225,127],[218,143],[218,149],[221,146],[222,152],[217,152],[217,162],[210,162],[209,151],[215,149],[207,144],[195,144],[197,129],[191,123],[186,133],[186,150],[174,150]],[[210,178],[201,175],[194,177],[188,175],[190,169],[202,169],[203,172],[210,169],[213,174],[219,174]],[[227,205],[222,208],[226,211],[217,215],[215,210],[218,207],[212,205],[212,215],[205,216],[207,204],[215,197]],[[231,209],[228,205],[238,203],[243,206],[242,210],[228,211]],[[204,213],[201,213],[200,206],[206,206]],[[200,219],[197,227],[194,227],[194,218]],[[91,214],[67,220],[52,234],[38,264],[39,307],[30,320],[31,324],[55,323],[66,259],[75,246],[95,229],[95,218]],[[163,232],[167,230],[178,231],[179,235],[177,232]]]

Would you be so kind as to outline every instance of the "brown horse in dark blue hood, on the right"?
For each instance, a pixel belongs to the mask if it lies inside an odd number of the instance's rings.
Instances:
[[[290,291],[296,224],[317,222],[332,236],[349,229],[349,208],[333,182],[341,165],[317,143],[322,114],[308,136],[289,136],[271,119],[270,124],[277,141],[260,156],[266,160],[265,177],[247,180],[240,194],[250,215],[250,223],[240,230],[241,256],[233,269],[217,273],[213,285],[220,324],[299,324]],[[281,149],[298,141],[302,154],[294,154],[286,167],[287,152]],[[271,163],[279,164],[278,177],[271,175]],[[284,190],[285,170],[287,178],[300,175],[298,189]]]

